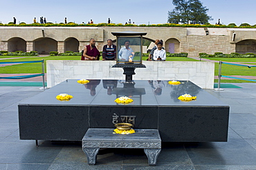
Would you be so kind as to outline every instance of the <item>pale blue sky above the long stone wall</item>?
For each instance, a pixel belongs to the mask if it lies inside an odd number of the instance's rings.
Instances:
[[[218,19],[228,25],[235,23],[256,24],[255,0],[201,0],[203,6],[209,9],[208,15],[212,16],[210,23],[215,24]],[[0,22],[8,23],[17,19],[17,23],[33,23],[34,17],[39,22],[40,17],[46,17],[47,22],[94,23],[131,22],[135,24],[167,23],[167,13],[174,9],[172,0],[1,0]]]

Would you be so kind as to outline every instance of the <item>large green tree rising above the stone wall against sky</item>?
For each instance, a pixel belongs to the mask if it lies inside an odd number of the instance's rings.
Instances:
[[[172,0],[174,10],[168,11],[169,23],[208,23],[212,17],[208,16],[208,8],[199,0]]]

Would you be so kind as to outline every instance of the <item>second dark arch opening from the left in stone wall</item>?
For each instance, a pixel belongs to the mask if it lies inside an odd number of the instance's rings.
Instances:
[[[50,54],[50,52],[57,52],[57,41],[51,38],[39,38],[35,41],[35,51],[38,54]]]

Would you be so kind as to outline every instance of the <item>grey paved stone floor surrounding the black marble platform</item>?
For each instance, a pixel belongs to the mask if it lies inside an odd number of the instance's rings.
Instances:
[[[143,149],[101,149],[87,164],[80,142],[19,140],[17,104],[39,87],[0,87],[0,169],[256,169],[256,83],[207,91],[230,105],[228,142],[163,143],[156,167]]]

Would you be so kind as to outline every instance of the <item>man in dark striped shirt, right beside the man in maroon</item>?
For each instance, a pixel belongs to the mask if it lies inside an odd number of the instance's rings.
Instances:
[[[113,45],[111,39],[107,40],[107,45],[104,45],[102,50],[102,60],[116,60],[116,45]]]

